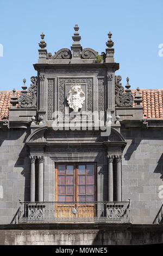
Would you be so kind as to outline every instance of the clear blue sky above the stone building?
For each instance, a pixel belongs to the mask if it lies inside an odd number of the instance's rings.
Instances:
[[[108,32],[112,32],[117,75],[130,78],[131,88],[163,88],[162,0],[1,0],[0,90],[21,89],[24,77],[36,75],[41,32],[45,33],[47,51],[70,48],[74,25],[79,25],[83,48],[105,51]]]

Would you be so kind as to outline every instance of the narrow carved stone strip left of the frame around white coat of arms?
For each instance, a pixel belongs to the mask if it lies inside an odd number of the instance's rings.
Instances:
[[[48,120],[53,119],[54,80],[48,80]]]

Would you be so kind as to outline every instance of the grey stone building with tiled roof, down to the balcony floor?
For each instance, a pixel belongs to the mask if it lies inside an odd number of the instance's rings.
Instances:
[[[112,34],[99,55],[74,31],[1,92],[0,224],[161,223],[162,90],[124,88]]]

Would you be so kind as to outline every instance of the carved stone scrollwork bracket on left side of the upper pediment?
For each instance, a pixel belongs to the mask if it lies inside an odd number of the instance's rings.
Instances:
[[[21,94],[18,98],[18,103],[21,108],[35,108],[37,102],[37,77],[32,76],[30,77],[30,87],[28,88],[28,94]]]

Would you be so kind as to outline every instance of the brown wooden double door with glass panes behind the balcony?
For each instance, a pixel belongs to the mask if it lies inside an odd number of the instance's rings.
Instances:
[[[58,163],[55,202],[58,218],[93,218],[96,215],[96,164]]]

